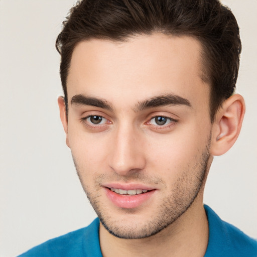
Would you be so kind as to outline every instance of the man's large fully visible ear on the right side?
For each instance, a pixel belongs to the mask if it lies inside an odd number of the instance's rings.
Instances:
[[[213,123],[212,155],[223,155],[233,146],[241,130],[244,112],[244,100],[239,94],[234,94],[223,102]]]

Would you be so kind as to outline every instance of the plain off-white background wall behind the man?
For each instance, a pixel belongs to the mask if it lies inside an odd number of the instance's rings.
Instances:
[[[222,1],[241,28],[237,88],[246,101],[241,135],[216,157],[204,202],[257,238],[256,0]],[[0,0],[0,256],[15,256],[96,216],[59,120],[55,38],[73,0]]]

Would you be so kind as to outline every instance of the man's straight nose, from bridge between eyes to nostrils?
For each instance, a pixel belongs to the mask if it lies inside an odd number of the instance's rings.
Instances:
[[[146,166],[146,158],[140,132],[123,126],[117,129],[113,137],[109,152],[109,167],[122,176],[143,170]]]

